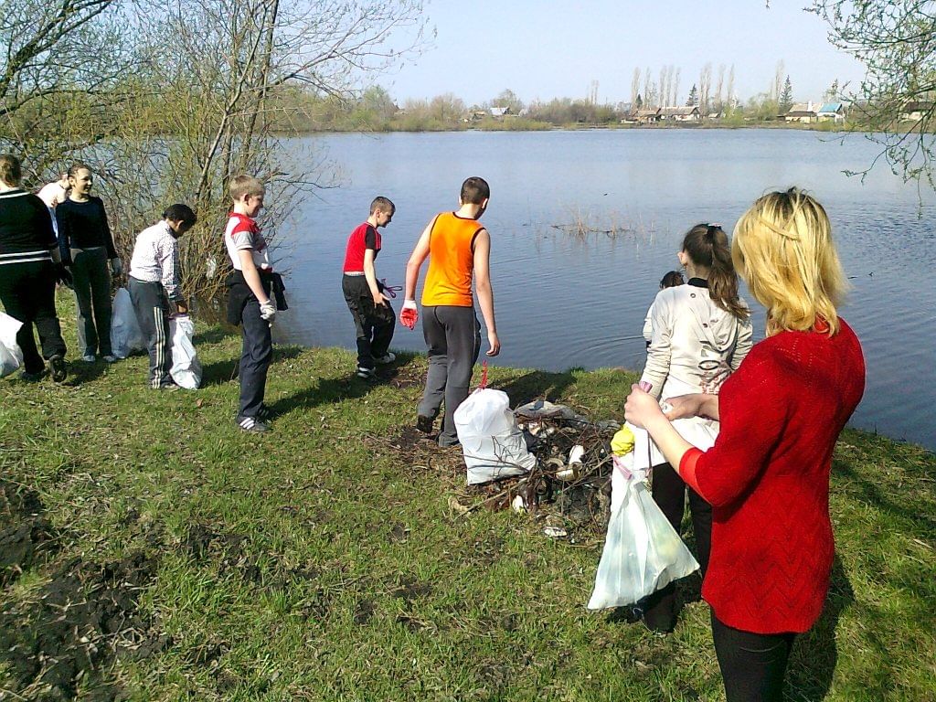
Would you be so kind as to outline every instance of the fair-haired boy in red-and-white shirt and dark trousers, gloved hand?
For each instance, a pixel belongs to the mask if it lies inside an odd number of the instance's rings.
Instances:
[[[263,209],[266,188],[253,176],[239,175],[228,186],[234,201],[225,245],[234,271],[227,279],[227,321],[241,326],[241,400],[235,419],[241,431],[270,431],[263,403],[273,356],[270,327],[276,316],[271,300],[273,267],[267,241],[254,217]]]

